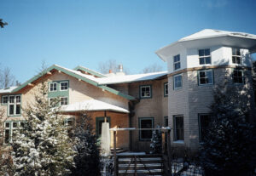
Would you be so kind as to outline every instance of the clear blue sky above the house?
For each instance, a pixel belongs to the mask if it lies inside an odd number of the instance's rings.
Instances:
[[[135,74],[154,51],[205,28],[256,34],[255,0],[0,0],[0,63],[16,79],[47,65],[96,70],[117,60]]]

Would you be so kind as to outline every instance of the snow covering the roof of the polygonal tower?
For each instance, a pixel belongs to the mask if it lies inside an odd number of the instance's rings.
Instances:
[[[183,37],[180,40],[178,40],[178,42],[196,40],[196,39],[202,39],[202,38],[211,38],[211,37],[224,37],[224,36],[245,37],[245,38],[256,39],[256,35],[248,34],[248,33],[244,33],[244,32],[205,29],[202,31],[198,31],[192,35],[189,35],[187,37]]]

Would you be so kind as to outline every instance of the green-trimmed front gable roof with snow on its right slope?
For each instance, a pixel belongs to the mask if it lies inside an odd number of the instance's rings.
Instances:
[[[117,94],[125,99],[135,99],[134,97],[132,97],[131,95],[128,95],[128,94],[123,94],[121,92],[119,92],[118,90],[115,90],[113,88],[108,88],[106,86],[102,86],[102,85],[98,85],[98,82],[96,82],[96,77],[93,77],[91,75],[85,75],[83,73],[81,73],[80,71],[73,71],[71,69],[67,69],[65,67],[62,67],[60,65],[52,65],[50,66],[46,71],[44,71],[44,73],[39,73],[37,76],[35,77],[32,77],[30,80],[28,80],[27,82],[21,84],[19,87],[13,89],[10,93],[15,93],[15,92],[18,92],[20,91],[22,88],[25,88],[29,83],[32,83],[36,80],[38,80],[38,78],[44,76],[45,74],[47,74],[47,72],[49,71],[52,71],[52,70],[56,70],[56,71],[61,71],[71,77],[76,77],[78,79],[80,79],[81,81],[84,81],[84,82],[88,82],[98,88],[102,88],[102,89],[105,89],[107,90],[108,92],[112,93],[112,94]],[[0,92],[1,93],[1,92]]]

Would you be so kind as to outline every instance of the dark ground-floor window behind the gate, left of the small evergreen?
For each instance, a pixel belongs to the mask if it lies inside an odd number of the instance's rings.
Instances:
[[[141,117],[139,118],[139,128],[154,128],[153,117]],[[150,140],[152,138],[152,130],[140,130],[140,140]]]

